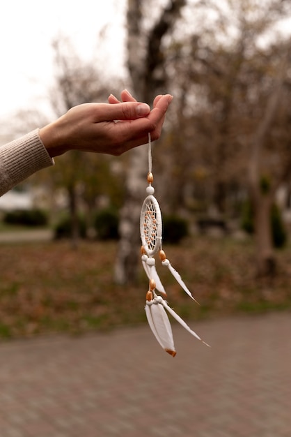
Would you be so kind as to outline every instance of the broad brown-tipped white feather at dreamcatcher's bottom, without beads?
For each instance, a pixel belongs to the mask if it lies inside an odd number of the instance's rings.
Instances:
[[[159,343],[162,343],[165,350],[175,352],[172,328],[164,307],[161,304],[154,303],[150,306],[150,311],[152,322],[159,336]]]

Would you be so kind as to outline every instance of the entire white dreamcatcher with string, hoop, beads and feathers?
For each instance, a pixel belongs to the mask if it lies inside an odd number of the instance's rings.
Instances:
[[[177,320],[182,327],[187,329],[190,334],[192,334],[196,339],[202,341],[206,346],[209,346],[205,341],[200,339],[200,336],[187,325],[187,323],[178,316],[166,302],[166,291],[164,286],[159,279],[157,274],[157,269],[155,268],[155,258],[154,256],[159,252],[159,259],[164,267],[167,267],[171,274],[184,292],[191,297],[195,302],[196,299],[192,296],[190,290],[185,285],[180,274],[172,267],[171,262],[166,258],[166,253],[162,250],[162,214],[159,209],[159,203],[154,196],[155,188],[152,186],[153,175],[152,175],[152,149],[150,141],[150,133],[148,134],[148,186],[146,188],[146,193],[148,196],[143,201],[141,207],[141,219],[140,219],[140,229],[141,229],[141,262],[143,268],[149,279],[149,290],[146,293],[146,317],[148,319],[148,324],[152,333],[159,344],[166,350],[167,353],[175,357],[176,351],[173,341],[173,334],[171,329],[170,321],[168,320],[168,313]],[[161,295],[157,295],[159,292]]]

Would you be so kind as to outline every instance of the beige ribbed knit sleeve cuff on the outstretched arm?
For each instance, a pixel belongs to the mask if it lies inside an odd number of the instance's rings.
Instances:
[[[0,147],[0,195],[54,160],[42,144],[39,129]]]

